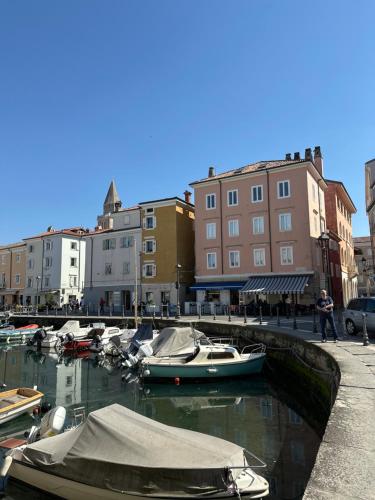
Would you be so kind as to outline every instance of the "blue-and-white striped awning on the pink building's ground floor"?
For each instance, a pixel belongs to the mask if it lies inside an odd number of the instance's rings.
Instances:
[[[310,274],[252,276],[240,291],[264,294],[303,293],[310,277]]]

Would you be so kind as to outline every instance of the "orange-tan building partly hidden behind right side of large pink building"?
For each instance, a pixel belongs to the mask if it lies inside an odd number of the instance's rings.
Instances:
[[[358,268],[354,259],[352,229],[352,216],[357,209],[342,182],[326,179],[326,183],[327,190],[324,196],[327,230],[328,234],[333,236],[328,258],[330,293],[334,296],[336,304],[346,306],[350,299],[358,296]],[[333,260],[337,245],[339,263]]]

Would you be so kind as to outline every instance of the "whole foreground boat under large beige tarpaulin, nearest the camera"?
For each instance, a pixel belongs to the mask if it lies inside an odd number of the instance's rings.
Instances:
[[[68,500],[263,498],[268,483],[247,456],[229,441],[113,404],[76,428],[10,450],[2,475]]]

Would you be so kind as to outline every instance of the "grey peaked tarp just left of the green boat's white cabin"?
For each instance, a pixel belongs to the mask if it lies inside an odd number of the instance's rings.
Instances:
[[[161,358],[193,354],[198,340],[203,338],[206,338],[204,333],[190,326],[163,328],[151,342],[153,356]]]

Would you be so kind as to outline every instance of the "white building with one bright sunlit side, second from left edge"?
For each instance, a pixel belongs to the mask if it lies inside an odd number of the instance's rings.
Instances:
[[[82,228],[54,230],[25,238],[24,304],[61,306],[80,300],[85,272],[86,234]]]

